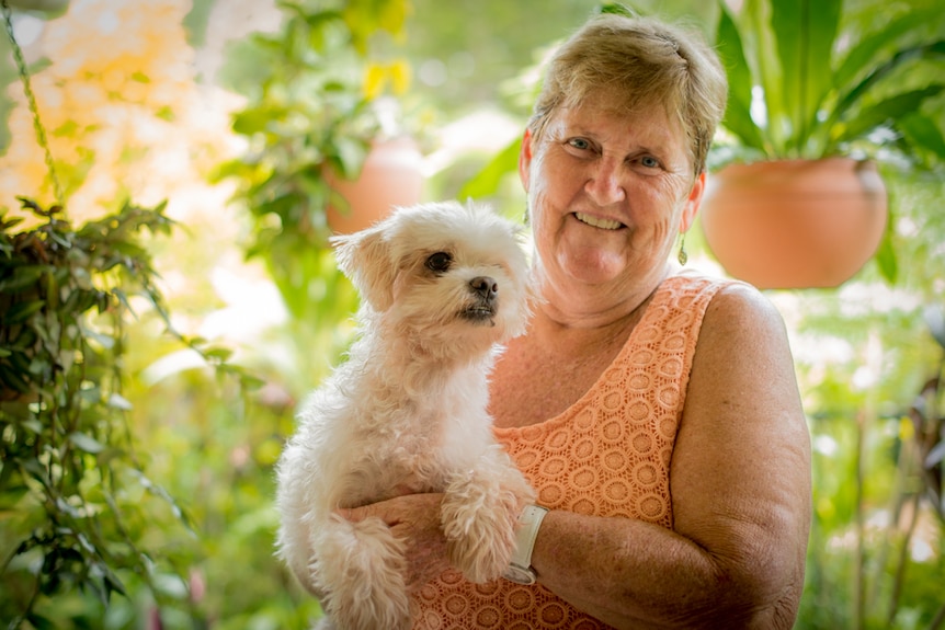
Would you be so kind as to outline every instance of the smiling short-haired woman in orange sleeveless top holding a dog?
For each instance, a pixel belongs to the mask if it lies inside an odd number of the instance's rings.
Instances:
[[[725,98],[713,51],[650,19],[595,18],[551,61],[519,169],[544,301],[491,381],[538,496],[508,579],[449,568],[437,494],[345,514],[408,541],[417,628],[793,625],[810,467],[784,324],[668,262]]]

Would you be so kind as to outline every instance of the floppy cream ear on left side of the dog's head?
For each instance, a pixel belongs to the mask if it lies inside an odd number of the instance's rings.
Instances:
[[[385,238],[385,224],[360,232],[331,237],[338,268],[354,284],[362,299],[380,312],[394,303],[394,280],[397,261],[391,260],[390,242]]]

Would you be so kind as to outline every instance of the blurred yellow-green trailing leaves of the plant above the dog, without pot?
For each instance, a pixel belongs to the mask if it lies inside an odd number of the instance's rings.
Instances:
[[[249,150],[220,174],[238,179],[253,218],[248,254],[266,261],[292,314],[311,319],[321,296],[310,294],[310,280],[333,267],[326,209],[346,207],[326,174],[355,179],[372,140],[390,131],[379,96],[406,90],[409,67],[373,59],[368,43],[378,33],[399,36],[408,4],[291,0],[280,8],[282,30],[250,37],[257,76],[237,85],[249,103],[232,128]]]

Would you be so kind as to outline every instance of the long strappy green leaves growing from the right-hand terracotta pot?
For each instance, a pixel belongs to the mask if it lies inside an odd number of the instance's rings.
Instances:
[[[816,159],[893,151],[945,159],[941,7],[843,30],[843,0],[719,1],[716,42],[729,79],[722,126],[745,158]],[[938,25],[936,28],[935,25]],[[925,106],[936,111],[926,111]]]

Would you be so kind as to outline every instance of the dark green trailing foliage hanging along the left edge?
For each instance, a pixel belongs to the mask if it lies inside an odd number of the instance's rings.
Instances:
[[[138,238],[171,222],[163,206],[126,204],[73,229],[21,199],[46,221],[18,232],[22,219],[0,215],[0,617],[50,628],[42,608],[57,594],[107,605],[127,595],[124,572],[152,585],[146,497],[187,523],[139,463],[122,396],[132,301],[161,303]]]

